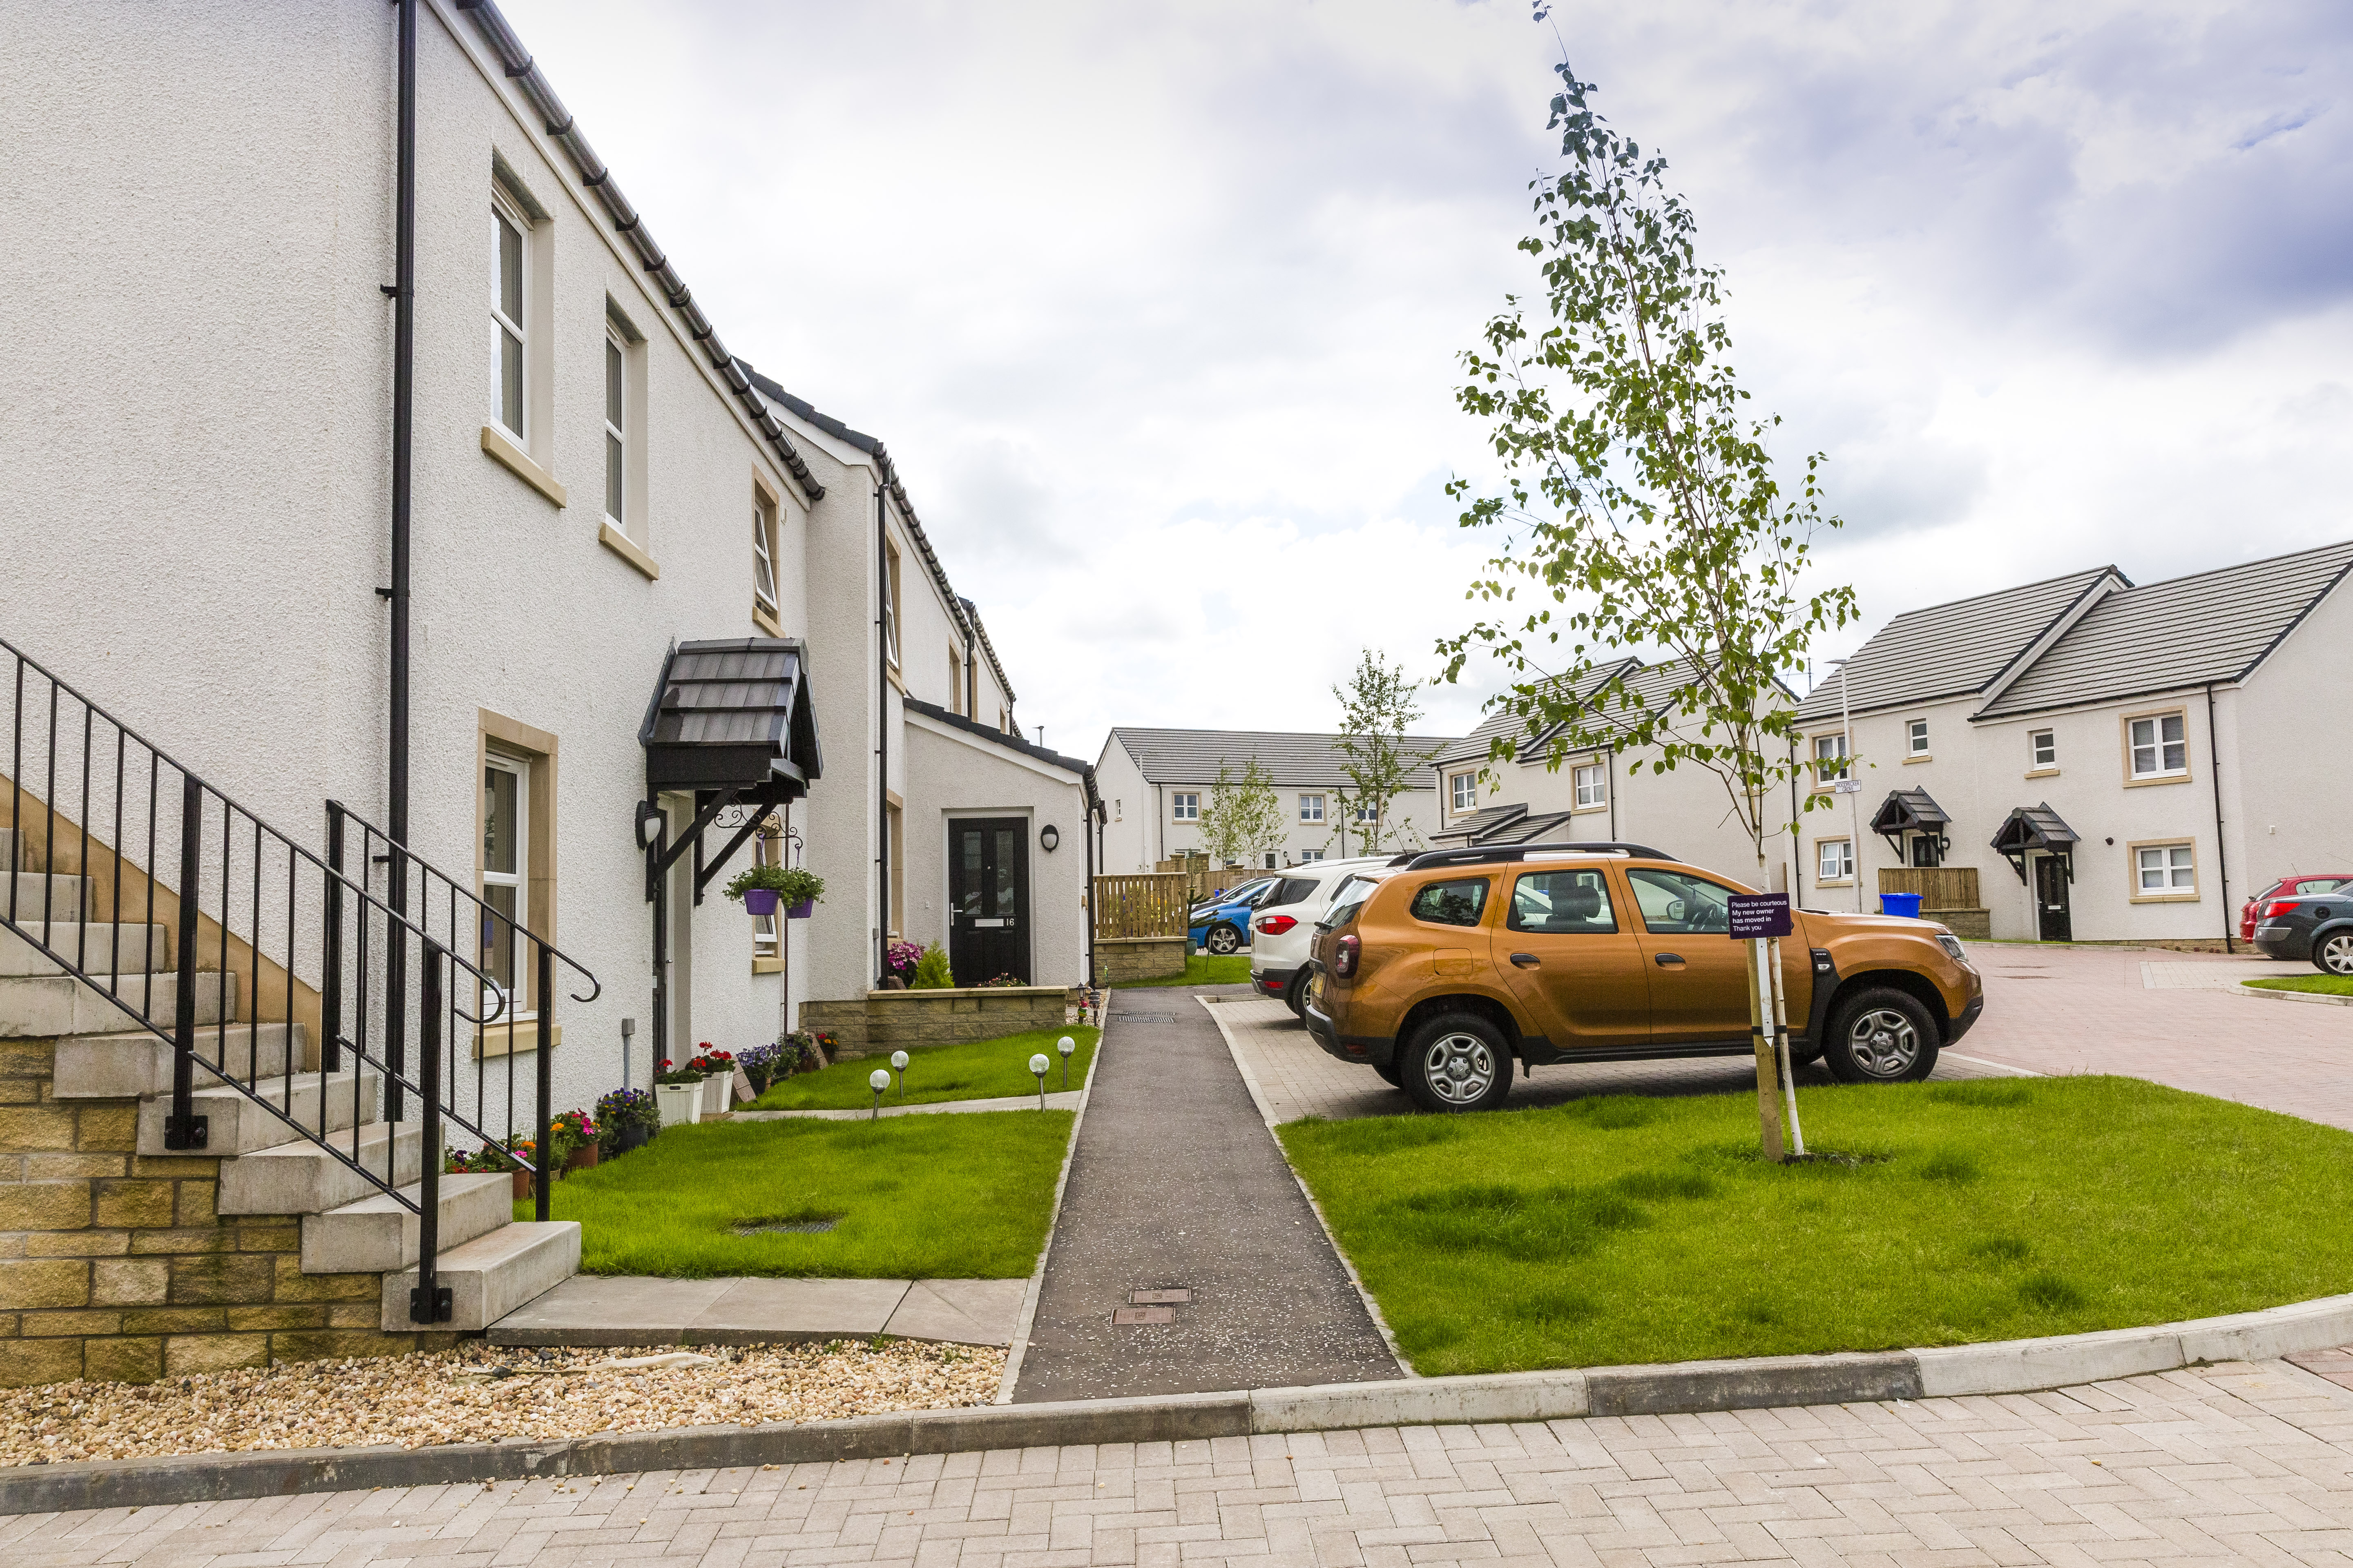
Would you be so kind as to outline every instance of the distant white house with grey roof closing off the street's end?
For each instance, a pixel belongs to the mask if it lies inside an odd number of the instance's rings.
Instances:
[[[1417,757],[1454,745],[1445,736],[1405,736]],[[1381,813],[1381,842],[1367,844],[1372,811],[1355,802],[1346,757],[1329,733],[1254,729],[1113,729],[1094,762],[1104,811],[1104,870],[1148,872],[1162,860],[1200,853],[1200,816],[1219,769],[1240,778],[1249,762],[1273,780],[1278,837],[1252,851],[1254,870],[1304,860],[1421,849],[1438,825],[1438,773],[1417,766],[1412,788]]]

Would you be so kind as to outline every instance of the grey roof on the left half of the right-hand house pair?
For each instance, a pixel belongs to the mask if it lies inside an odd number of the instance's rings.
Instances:
[[[1864,642],[1847,661],[1847,701],[1854,712],[1906,708],[1986,691],[2026,649],[2104,581],[2127,578],[2115,567],[2071,571],[1974,599],[1908,609]],[[1835,719],[1840,682],[1821,679],[1798,719]]]

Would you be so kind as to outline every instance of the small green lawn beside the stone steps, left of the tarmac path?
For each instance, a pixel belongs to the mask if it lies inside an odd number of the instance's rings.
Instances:
[[[555,1182],[581,1272],[1019,1279],[1038,1265],[1071,1112],[706,1121]],[[529,1204],[515,1204],[529,1218]],[[826,1220],[821,1234],[739,1225]]]

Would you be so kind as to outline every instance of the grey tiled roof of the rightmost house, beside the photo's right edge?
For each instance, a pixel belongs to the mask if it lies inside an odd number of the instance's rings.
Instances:
[[[2353,541],[2111,592],[1979,717],[2245,679],[2348,567]]]

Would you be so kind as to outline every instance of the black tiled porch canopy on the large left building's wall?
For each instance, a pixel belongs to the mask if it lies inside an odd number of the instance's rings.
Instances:
[[[809,705],[807,646],[795,637],[725,637],[678,642],[661,665],[654,701],[638,729],[645,745],[645,792],[638,809],[647,849],[645,896],[661,875],[694,849],[694,903],[767,813],[809,792],[824,773],[816,712]],[[694,825],[675,844],[654,797],[694,792]],[[704,830],[722,811],[741,809],[744,823],[718,856],[704,856]],[[647,842],[645,825],[654,827]]]

